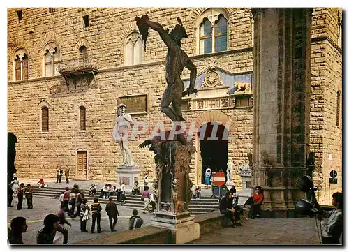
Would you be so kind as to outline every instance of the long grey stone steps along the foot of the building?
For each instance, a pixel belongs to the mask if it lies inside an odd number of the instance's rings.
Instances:
[[[59,195],[64,191],[64,188],[34,188],[34,197],[42,197],[42,198],[57,198],[59,199]],[[88,190],[85,190],[85,192]],[[86,193],[85,193],[86,194]],[[99,194],[98,194],[99,195]],[[97,195],[97,196],[98,196]],[[116,199],[116,196],[113,196]],[[88,202],[93,202],[94,197],[86,196]],[[108,199],[99,198],[99,202],[107,203]],[[57,202],[58,205],[59,202]],[[140,195],[132,195],[131,193],[126,193],[125,207],[131,207],[138,210],[143,210],[144,202],[141,200]],[[149,206],[151,209],[151,206]],[[189,210],[192,215],[195,214],[203,214],[211,211],[218,210],[219,204],[218,199],[216,198],[206,198],[202,197],[200,199],[192,199],[189,202]]]

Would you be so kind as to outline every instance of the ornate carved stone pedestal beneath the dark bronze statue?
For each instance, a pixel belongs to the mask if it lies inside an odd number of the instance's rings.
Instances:
[[[184,244],[200,237],[200,225],[188,211],[193,183],[189,178],[189,163],[195,152],[193,145],[177,141],[162,142],[156,154],[156,182],[158,211],[151,225],[172,230],[172,243]]]

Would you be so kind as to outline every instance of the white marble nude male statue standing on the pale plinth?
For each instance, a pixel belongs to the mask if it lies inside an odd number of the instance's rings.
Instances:
[[[133,166],[133,158],[130,149],[128,149],[128,127],[133,122],[131,115],[126,114],[126,105],[121,103],[117,106],[117,118],[112,137],[119,142],[123,163],[121,165]]]

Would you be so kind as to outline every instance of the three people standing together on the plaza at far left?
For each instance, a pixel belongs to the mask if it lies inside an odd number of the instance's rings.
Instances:
[[[13,195],[17,196],[17,210],[23,209],[23,198],[27,199],[28,209],[33,209],[33,193],[34,190],[31,187],[31,184],[27,184],[27,187],[24,187],[25,184],[21,183],[20,185],[17,177],[13,177],[13,180],[8,184],[7,188],[7,206],[12,207]]]

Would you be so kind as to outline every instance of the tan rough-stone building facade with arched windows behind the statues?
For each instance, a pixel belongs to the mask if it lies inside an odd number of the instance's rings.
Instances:
[[[115,180],[121,153],[112,131],[121,101],[144,103],[143,111],[131,114],[150,129],[169,122],[158,100],[166,86],[167,47],[149,30],[144,52],[134,21],[144,13],[170,30],[181,18],[189,36],[181,47],[198,68],[198,96],[184,99],[184,119],[195,128],[229,122],[231,138],[221,151],[227,162],[232,157],[232,179],[241,186],[237,169],[248,163],[252,152],[253,108],[250,92],[237,95],[235,83],[251,84],[253,92],[249,8],[9,8],[8,131],[18,139],[18,177],[53,178],[57,165],[68,165],[75,179]],[[315,184],[320,184],[319,196],[325,201],[332,191],[341,190],[341,9],[315,8],[312,18],[309,149],[315,151]],[[207,24],[214,27],[209,35]],[[81,62],[91,66],[82,75],[57,71],[79,68]],[[187,85],[189,72],[181,78]],[[141,177],[146,171],[155,175],[153,155],[138,149],[149,133],[129,142]],[[200,140],[194,142],[191,179],[201,184],[202,163],[207,161],[202,161]],[[329,188],[330,170],[337,170],[339,184]]]

